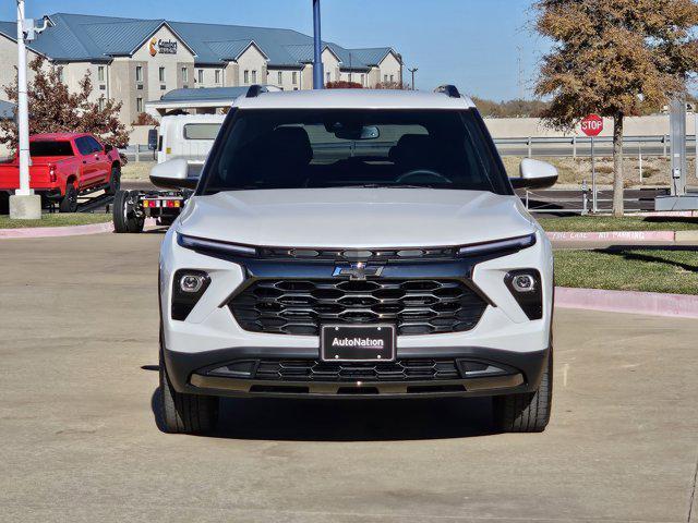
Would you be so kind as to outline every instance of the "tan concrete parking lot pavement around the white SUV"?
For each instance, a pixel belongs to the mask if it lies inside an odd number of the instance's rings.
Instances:
[[[0,521],[688,520],[696,321],[556,313],[541,435],[493,434],[488,400],[227,400],[214,437],[169,436],[160,239],[0,244]]]

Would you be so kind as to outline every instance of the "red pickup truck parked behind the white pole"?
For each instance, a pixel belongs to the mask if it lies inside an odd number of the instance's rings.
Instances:
[[[92,134],[36,134],[29,138],[29,187],[44,202],[58,202],[61,212],[77,210],[77,195],[105,190],[119,190],[121,158]],[[20,187],[20,166],[15,156],[0,163],[0,199]],[[0,202],[0,206],[2,202]]]

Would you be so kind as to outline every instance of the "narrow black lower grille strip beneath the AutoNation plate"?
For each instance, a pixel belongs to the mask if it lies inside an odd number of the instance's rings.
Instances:
[[[430,381],[460,379],[455,360],[398,360],[394,363],[334,363],[262,360],[255,379],[275,381]]]

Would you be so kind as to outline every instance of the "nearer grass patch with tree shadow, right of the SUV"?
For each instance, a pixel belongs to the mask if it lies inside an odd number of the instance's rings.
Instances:
[[[556,251],[559,287],[698,294],[698,251]]]

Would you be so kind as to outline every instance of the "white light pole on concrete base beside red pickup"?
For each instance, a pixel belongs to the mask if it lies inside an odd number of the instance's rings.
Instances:
[[[34,26],[34,20],[24,17],[24,0],[17,2],[17,137],[20,160],[20,187],[10,196],[10,218],[20,220],[38,220],[41,218],[41,197],[34,194],[29,187],[29,107],[26,93],[26,45],[37,33],[48,26],[45,19],[44,26]]]

